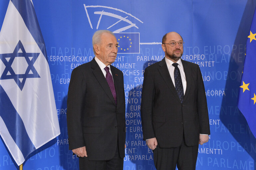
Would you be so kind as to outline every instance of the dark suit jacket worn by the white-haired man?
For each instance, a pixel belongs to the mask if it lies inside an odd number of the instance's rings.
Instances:
[[[95,59],[76,67],[71,74],[67,101],[69,149],[86,146],[89,160],[112,159],[117,143],[121,158],[125,156],[124,77],[116,67],[110,68],[117,106]]]

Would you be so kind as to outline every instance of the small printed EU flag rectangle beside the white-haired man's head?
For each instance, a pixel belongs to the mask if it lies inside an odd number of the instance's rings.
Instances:
[[[115,33],[118,53],[139,53],[139,33]]]

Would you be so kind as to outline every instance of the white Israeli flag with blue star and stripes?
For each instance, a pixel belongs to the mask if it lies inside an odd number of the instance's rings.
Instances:
[[[10,0],[0,32],[0,134],[18,165],[60,134],[45,43],[31,0]]]

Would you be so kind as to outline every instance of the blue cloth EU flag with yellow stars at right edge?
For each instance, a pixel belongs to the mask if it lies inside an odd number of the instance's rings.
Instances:
[[[246,43],[243,75],[240,83],[238,108],[256,137],[256,13]]]

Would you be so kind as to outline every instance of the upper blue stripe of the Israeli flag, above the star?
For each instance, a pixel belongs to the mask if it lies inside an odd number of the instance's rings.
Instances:
[[[25,25],[27,26],[30,34],[35,39],[37,45],[40,50],[44,54],[47,62],[47,54],[45,48],[45,42],[43,39],[43,35],[36,17],[36,12],[34,6],[30,0],[11,0],[16,9],[19,11]]]

